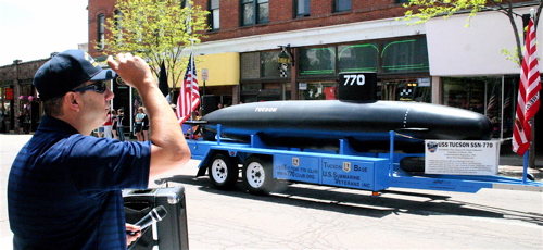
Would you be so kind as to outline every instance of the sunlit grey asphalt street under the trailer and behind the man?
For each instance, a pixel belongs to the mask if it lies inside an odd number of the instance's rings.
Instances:
[[[0,246],[10,249],[7,176],[29,136],[0,135]],[[191,249],[543,249],[543,193],[369,191],[295,184],[266,197],[194,178],[198,161],[160,176],[182,185]],[[153,184],[154,186],[159,186]]]

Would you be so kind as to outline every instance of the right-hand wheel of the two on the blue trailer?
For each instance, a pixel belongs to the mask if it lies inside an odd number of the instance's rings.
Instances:
[[[252,155],[243,164],[243,185],[252,195],[267,195],[275,188],[276,179],[272,170],[272,160]]]

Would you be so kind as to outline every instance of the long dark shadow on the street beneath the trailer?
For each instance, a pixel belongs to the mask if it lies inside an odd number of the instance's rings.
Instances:
[[[507,210],[484,204],[454,200],[450,196],[419,193],[411,191],[384,190],[380,196],[370,191],[291,184],[268,196],[248,193],[243,184],[238,182],[232,190],[215,189],[209,178],[175,175],[155,183],[179,183],[199,186],[199,190],[243,199],[260,200],[286,205],[332,211],[368,217],[384,217],[390,214],[414,215],[458,215],[472,217],[505,218],[543,226],[543,214]],[[169,184],[172,185],[172,184]]]

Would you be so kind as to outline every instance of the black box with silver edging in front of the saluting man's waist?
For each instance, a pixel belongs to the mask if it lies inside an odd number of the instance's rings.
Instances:
[[[128,249],[144,250],[159,246],[160,250],[189,249],[189,234],[187,227],[187,208],[185,204],[185,188],[182,186],[123,190],[126,222],[135,224],[146,216],[149,211],[159,205],[166,209],[166,216],[153,226],[143,229],[141,237],[132,242]],[[153,229],[156,230],[153,237]]]

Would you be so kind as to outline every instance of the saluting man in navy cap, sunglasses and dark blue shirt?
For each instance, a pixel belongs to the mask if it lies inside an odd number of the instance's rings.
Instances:
[[[8,184],[14,249],[126,249],[121,190],[146,189],[149,178],[185,164],[190,151],[149,65],[139,57],[108,58],[102,70],[84,51],[67,50],[43,64],[33,85],[45,115],[13,162]],[[114,97],[104,80],[118,74],[148,110],[150,141],[89,136]],[[138,237],[136,235],[135,237]]]

